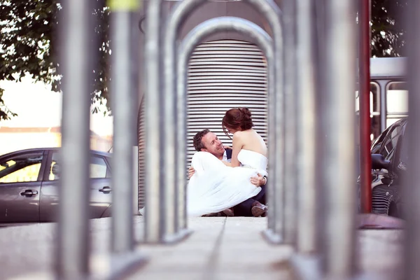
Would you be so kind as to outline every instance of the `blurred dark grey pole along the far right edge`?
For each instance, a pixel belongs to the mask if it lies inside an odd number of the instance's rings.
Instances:
[[[407,12],[407,73],[409,87],[408,134],[408,172],[405,179],[404,197],[407,201],[405,209],[407,230],[405,238],[405,269],[403,279],[420,279],[420,2],[408,1]]]

